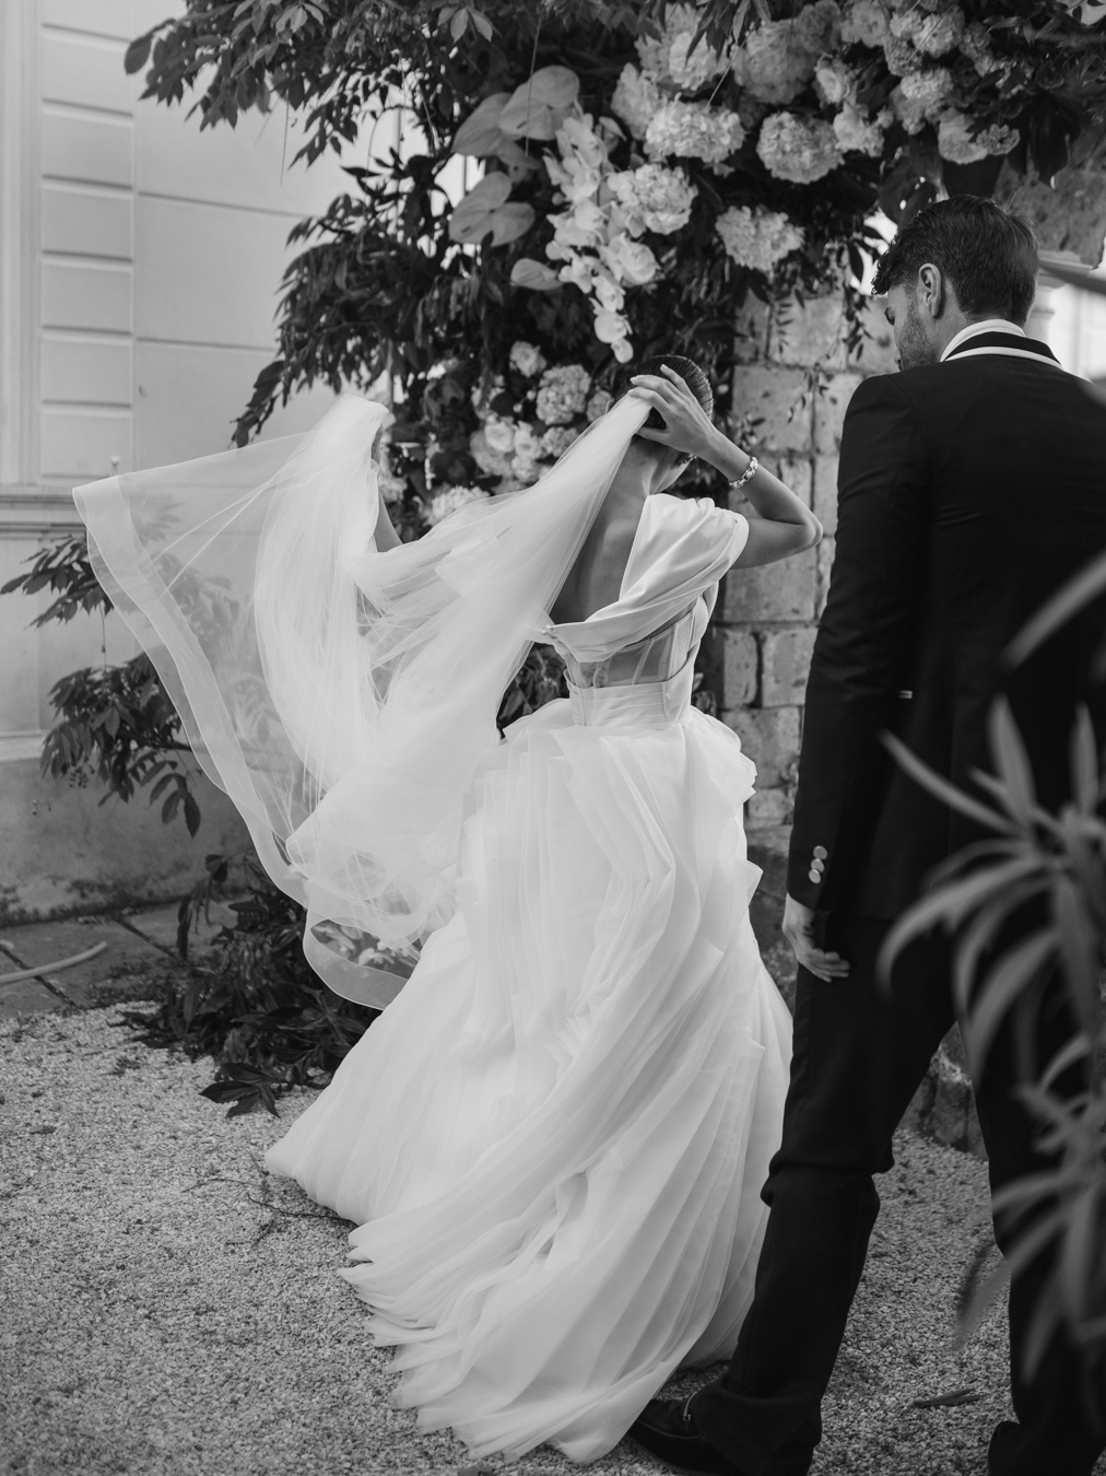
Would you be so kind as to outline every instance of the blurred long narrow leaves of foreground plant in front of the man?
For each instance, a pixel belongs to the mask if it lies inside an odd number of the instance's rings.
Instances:
[[[1091,564],[1060,590],[1015,642],[1026,657],[1088,601],[1106,592],[1106,559]],[[1004,703],[991,716],[995,778],[982,775],[981,800],[956,790],[897,739],[889,747],[907,770],[953,809],[995,838],[954,856],[929,893],[888,937],[888,964],[905,943],[932,927],[956,939],[954,990],[964,1020],[973,1069],[987,1058],[1000,1024],[1013,1015],[1032,1032],[1043,982],[1059,967],[1078,1033],[1019,1088],[1041,1125],[1041,1145],[1056,1154],[1051,1170],[1018,1179],[994,1199],[995,1213],[1023,1225],[1013,1252],[984,1277],[978,1258],[966,1280],[961,1333],[966,1337],[1009,1277],[1059,1243],[1056,1269],[1044,1287],[1028,1345],[1032,1370],[1060,1322],[1088,1352],[1106,1361],[1106,766],[1094,729],[1081,711],[1071,747],[1072,800],[1057,815],[1044,810],[1018,728]],[[1019,909],[1044,903],[1035,931],[994,956],[994,940]],[[1074,1100],[1050,1088],[1078,1061],[1096,1070],[1091,1089]],[[1029,1371],[1031,1371],[1029,1370]]]

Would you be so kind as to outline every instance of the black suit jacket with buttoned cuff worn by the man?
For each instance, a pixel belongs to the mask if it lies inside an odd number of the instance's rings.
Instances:
[[[894,918],[981,832],[891,760],[882,732],[970,790],[972,769],[994,768],[988,711],[1004,692],[1050,807],[1071,794],[1079,701],[1106,734],[1088,679],[1105,602],[1020,669],[1003,661],[1028,617],[1106,548],[1106,407],[1044,344],[976,335],[944,363],[858,387],[838,506],[787,889],[821,912]]]

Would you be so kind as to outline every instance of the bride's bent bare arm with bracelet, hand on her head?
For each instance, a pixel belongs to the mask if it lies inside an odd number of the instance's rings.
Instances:
[[[662,375],[633,378],[633,393],[646,400],[665,422],[664,430],[643,425],[637,434],[698,456],[720,471],[730,484],[740,484],[754,517],[736,567],[773,564],[814,548],[821,540],[821,524],[811,509],[779,477],[755,463],[748,452],[718,430],[674,369],[665,366]]]

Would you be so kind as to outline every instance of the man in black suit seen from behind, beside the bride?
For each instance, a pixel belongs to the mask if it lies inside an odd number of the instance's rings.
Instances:
[[[892,1134],[954,1020],[941,936],[901,955],[891,990],[876,959],[926,872],[978,832],[889,760],[880,734],[898,734],[972,788],[972,772],[991,769],[987,717],[1001,692],[1048,809],[1071,793],[1079,701],[1106,734],[1103,695],[1087,675],[1106,633],[1102,604],[1018,670],[1003,663],[1028,617],[1106,548],[1106,415],[1023,334],[1037,270],[1029,227],[972,196],[922,211],[879,266],[902,372],[860,385],[842,434],[838,548],[807,688],[783,922],[799,959],[795,1057],[764,1187],[771,1210],[757,1290],[727,1373],[686,1404],[653,1401],[631,1430],[680,1470],[808,1470],[879,1210],[873,1175],[892,1166]],[[1038,1063],[1071,1033],[1053,980]],[[1012,1036],[1000,1032],[975,1080],[992,1190],[1047,1166],[1012,1094]],[[1072,1070],[1060,1089],[1081,1085]],[[995,1227],[1003,1250],[1007,1230]],[[1050,1269],[1046,1252],[1013,1281],[1016,1421],[994,1433],[991,1476],[1088,1476],[1106,1445],[1063,1331],[1034,1377],[1025,1373]]]

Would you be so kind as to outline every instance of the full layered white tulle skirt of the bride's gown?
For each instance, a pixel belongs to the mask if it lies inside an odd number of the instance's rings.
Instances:
[[[342,1275],[397,1401],[476,1455],[596,1460],[733,1351],[790,1051],[749,925],[752,779],[695,710],[516,723],[451,921],[268,1151],[357,1224]]]

